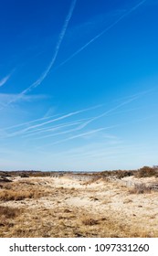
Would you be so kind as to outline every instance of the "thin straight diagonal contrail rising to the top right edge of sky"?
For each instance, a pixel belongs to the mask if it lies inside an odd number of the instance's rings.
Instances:
[[[142,0],[139,4],[133,6],[129,11],[127,11],[125,14],[120,16],[116,21],[114,21],[109,27],[106,27],[100,34],[90,39],[88,43],[86,43],[83,47],[79,48],[76,52],[74,52],[68,59],[65,59],[63,62],[61,62],[54,70],[62,67],[64,64],[66,64],[70,59],[73,59],[76,55],[79,54],[84,48],[87,48],[92,42],[97,40],[99,37],[101,37],[103,34],[105,34],[107,31],[109,31],[112,27],[115,27],[123,18],[126,16],[129,16],[133,11],[135,11],[137,8],[139,8],[143,3],[145,3],[147,0]]]

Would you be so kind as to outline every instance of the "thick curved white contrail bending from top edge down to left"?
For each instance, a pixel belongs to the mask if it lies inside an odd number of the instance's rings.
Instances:
[[[9,101],[5,106],[9,105],[10,103],[12,102],[15,102],[17,101],[18,99],[20,99],[24,94],[28,93],[29,91],[32,91],[34,88],[36,88],[37,86],[39,86],[43,80],[45,80],[47,78],[47,75],[50,71],[50,69],[52,68],[53,64],[55,63],[56,59],[57,59],[57,56],[58,56],[58,50],[60,48],[60,45],[62,43],[62,40],[65,36],[65,33],[66,33],[66,30],[67,30],[67,27],[68,27],[68,23],[69,23],[69,20],[73,14],[73,11],[74,11],[74,8],[75,8],[75,5],[76,5],[76,2],[77,0],[73,0],[71,5],[70,5],[70,8],[69,8],[69,11],[68,11],[68,16],[66,17],[66,20],[64,22],[64,26],[62,27],[62,30],[59,34],[59,37],[58,37],[58,43],[57,43],[57,46],[55,48],[55,53],[54,53],[54,56],[53,58],[51,59],[47,69],[44,71],[44,73],[39,77],[38,80],[36,80],[34,83],[32,83],[29,87],[26,88],[26,90],[22,91],[20,94],[18,94],[18,96],[13,99],[12,101]]]

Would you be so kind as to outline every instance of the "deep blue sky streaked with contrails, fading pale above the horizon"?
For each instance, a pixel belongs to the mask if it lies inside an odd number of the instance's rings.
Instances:
[[[0,169],[158,164],[157,0],[0,9]]]

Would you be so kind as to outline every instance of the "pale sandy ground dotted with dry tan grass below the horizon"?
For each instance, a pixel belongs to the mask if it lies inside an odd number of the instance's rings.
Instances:
[[[34,187],[44,194],[0,201],[0,206],[22,209],[10,227],[0,226],[0,236],[158,237],[158,191],[138,193],[132,187],[156,182],[132,176],[111,181],[81,176],[16,177],[10,186],[28,191]]]

